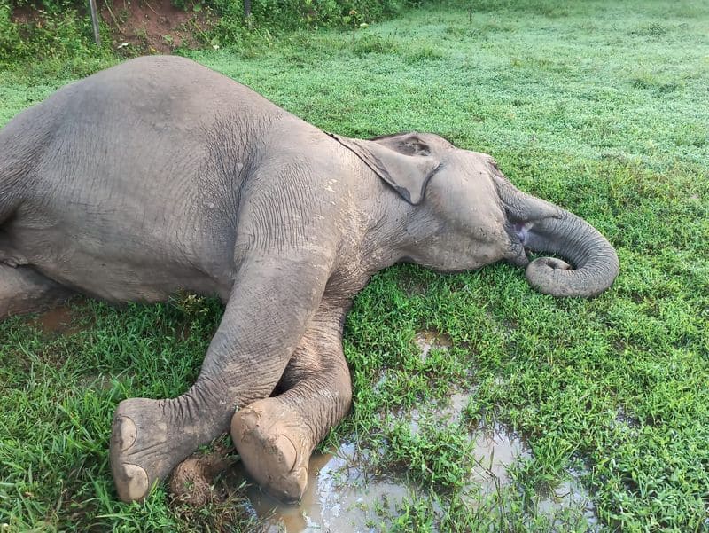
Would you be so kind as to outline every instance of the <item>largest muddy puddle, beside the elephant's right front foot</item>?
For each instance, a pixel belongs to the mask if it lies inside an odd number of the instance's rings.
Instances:
[[[335,455],[314,455],[300,506],[286,506],[253,485],[247,493],[253,512],[265,519],[269,531],[378,531],[382,521],[378,511],[395,515],[397,504],[414,490],[405,483],[367,475],[362,460],[366,461],[366,454],[356,451],[353,443],[344,443]]]

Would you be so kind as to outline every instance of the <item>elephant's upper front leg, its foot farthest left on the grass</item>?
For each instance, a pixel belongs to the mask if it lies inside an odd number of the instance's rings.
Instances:
[[[316,264],[277,257],[242,266],[190,390],[119,404],[111,466],[123,501],[144,498],[199,445],[227,431],[235,408],[269,396],[322,298],[329,266]]]

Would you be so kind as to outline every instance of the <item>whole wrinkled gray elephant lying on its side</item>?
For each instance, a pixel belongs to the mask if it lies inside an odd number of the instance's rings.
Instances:
[[[526,250],[569,259],[528,263]],[[329,136],[188,59],[134,59],[58,90],[0,131],[0,318],[75,293],[226,305],[197,382],[113,419],[121,499],[144,498],[230,429],[261,485],[297,500],[347,413],[341,333],[377,270],[505,259],[532,286],[593,296],[618,273],[577,216],[432,134]],[[235,414],[236,409],[236,414]]]

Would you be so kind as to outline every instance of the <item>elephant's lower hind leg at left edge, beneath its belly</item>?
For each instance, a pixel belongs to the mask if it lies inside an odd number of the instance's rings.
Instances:
[[[46,310],[74,294],[28,266],[0,263],[0,320]]]

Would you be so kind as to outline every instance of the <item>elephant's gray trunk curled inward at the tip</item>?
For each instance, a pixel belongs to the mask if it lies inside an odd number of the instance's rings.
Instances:
[[[618,255],[599,231],[562,208],[518,191],[505,178],[498,191],[519,243],[532,252],[560,255],[527,264],[531,286],[553,296],[591,297],[610,287],[618,276]]]

